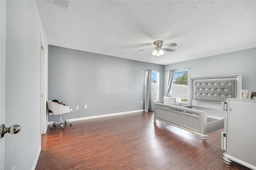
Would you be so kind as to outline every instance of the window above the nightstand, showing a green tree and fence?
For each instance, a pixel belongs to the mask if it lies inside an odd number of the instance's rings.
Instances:
[[[188,70],[175,71],[172,82],[172,96],[180,97],[181,102],[188,102]]]

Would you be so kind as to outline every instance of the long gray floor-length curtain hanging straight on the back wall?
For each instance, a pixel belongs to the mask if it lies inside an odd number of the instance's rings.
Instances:
[[[146,91],[145,91],[145,112],[154,111],[154,99],[152,89],[152,70],[147,70],[146,74]]]

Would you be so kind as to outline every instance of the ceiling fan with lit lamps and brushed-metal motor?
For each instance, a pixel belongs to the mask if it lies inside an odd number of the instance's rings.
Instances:
[[[160,56],[160,55],[164,54],[164,51],[169,51],[169,52],[175,51],[175,49],[170,49],[170,48],[166,48],[166,47],[173,47],[173,46],[177,45],[176,43],[169,43],[169,44],[163,45],[163,41],[162,40],[157,40],[154,43],[148,43],[148,44],[149,45],[153,45],[154,48],[142,49],[140,51],[154,49],[154,51],[152,52],[152,55],[156,55],[156,56]]]

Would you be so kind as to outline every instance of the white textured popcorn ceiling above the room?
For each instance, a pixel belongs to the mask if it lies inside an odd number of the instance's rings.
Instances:
[[[50,45],[167,65],[256,47],[256,1],[37,1]],[[159,60],[156,40],[176,43]]]

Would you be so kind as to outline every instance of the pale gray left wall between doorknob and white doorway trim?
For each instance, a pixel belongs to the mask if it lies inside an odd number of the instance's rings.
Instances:
[[[6,170],[33,169],[40,153],[40,34],[48,46],[36,1],[6,1],[5,125],[21,126],[1,138]]]

